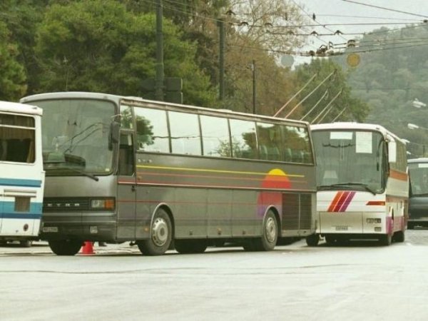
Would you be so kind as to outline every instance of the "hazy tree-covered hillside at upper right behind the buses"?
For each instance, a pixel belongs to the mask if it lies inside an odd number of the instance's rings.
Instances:
[[[350,49],[360,55],[360,64],[350,72],[354,96],[370,105],[367,122],[379,123],[416,148],[427,144],[428,130],[411,130],[408,123],[428,128],[427,108],[415,108],[415,98],[428,103],[428,26],[382,28],[360,39],[360,47]],[[346,56],[337,59],[346,68]],[[428,152],[428,148],[426,148]],[[422,155],[422,152],[419,153]]]

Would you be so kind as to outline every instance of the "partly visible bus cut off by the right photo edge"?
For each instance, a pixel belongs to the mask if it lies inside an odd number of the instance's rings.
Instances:
[[[407,228],[428,227],[428,158],[408,159],[410,177]]]

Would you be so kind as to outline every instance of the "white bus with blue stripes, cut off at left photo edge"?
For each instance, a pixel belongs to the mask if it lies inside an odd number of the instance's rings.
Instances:
[[[41,108],[0,101],[0,243],[38,239],[44,192]]]

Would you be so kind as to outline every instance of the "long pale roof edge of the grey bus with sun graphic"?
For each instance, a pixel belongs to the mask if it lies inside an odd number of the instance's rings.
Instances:
[[[109,93],[91,93],[91,92],[85,92],[85,91],[63,91],[63,92],[56,92],[56,93],[39,93],[32,96],[26,96],[24,98],[21,98],[21,103],[34,103],[35,101],[41,101],[45,99],[63,99],[63,98],[87,98],[87,99],[99,99],[99,100],[109,100],[109,101],[115,101],[116,103],[120,103],[120,101],[133,101],[137,103],[149,103],[151,106],[175,106],[177,108],[185,108],[188,110],[200,110],[200,111],[207,111],[212,113],[218,113],[223,115],[240,115],[240,116],[247,116],[251,118],[259,118],[259,119],[265,119],[267,121],[287,121],[290,123],[295,124],[305,124],[309,125],[306,121],[296,121],[293,119],[288,118],[277,118],[273,116],[264,116],[264,115],[258,115],[258,114],[252,114],[252,113],[240,113],[235,111],[230,111],[227,109],[217,109],[217,108],[206,108],[206,107],[199,107],[199,106],[190,106],[190,105],[183,105],[179,103],[169,103],[165,101],[151,101],[148,99],[144,99],[141,97],[134,97],[134,96],[119,96],[119,95],[112,95]]]

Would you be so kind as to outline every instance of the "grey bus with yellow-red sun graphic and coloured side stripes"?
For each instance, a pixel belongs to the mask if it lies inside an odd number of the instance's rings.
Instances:
[[[132,241],[145,255],[210,241],[272,250],[315,231],[309,125],[104,93],[21,99],[44,109],[41,238]]]

